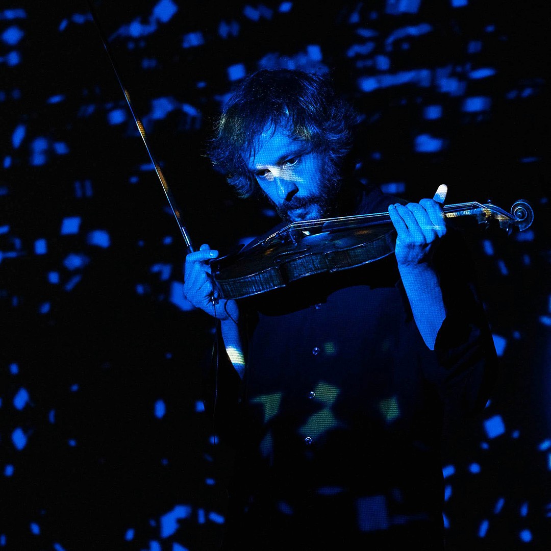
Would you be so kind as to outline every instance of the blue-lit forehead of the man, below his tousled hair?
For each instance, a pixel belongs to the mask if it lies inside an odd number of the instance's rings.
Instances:
[[[283,128],[265,129],[255,141],[255,149],[245,159],[249,169],[258,169],[265,166],[277,165],[287,156],[304,152],[307,142],[291,137]]]

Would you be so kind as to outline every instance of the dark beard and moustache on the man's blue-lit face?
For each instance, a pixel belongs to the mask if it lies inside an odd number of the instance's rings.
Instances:
[[[340,190],[341,179],[338,169],[334,163],[326,159],[320,176],[320,192],[316,196],[293,196],[282,206],[278,206],[273,201],[271,203],[276,208],[279,217],[287,222],[328,218],[336,207],[336,199]]]

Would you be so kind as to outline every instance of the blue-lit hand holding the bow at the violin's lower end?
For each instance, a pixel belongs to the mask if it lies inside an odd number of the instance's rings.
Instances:
[[[183,276],[183,294],[193,306],[207,312],[219,320],[233,320],[237,323],[239,309],[235,300],[219,299],[218,289],[214,287],[209,260],[218,257],[218,251],[208,245],[201,245],[196,252],[186,256]]]

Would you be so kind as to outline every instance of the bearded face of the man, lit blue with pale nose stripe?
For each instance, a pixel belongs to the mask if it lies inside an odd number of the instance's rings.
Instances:
[[[309,144],[283,128],[258,137],[246,159],[251,174],[284,220],[316,220],[327,215],[338,186],[328,163]]]

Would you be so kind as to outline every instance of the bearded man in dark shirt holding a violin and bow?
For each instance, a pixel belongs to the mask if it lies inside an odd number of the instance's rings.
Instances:
[[[441,431],[484,407],[495,349],[445,186],[406,203],[342,177],[354,122],[327,80],[281,69],[246,78],[216,128],[213,162],[284,223],[388,212],[397,235],[394,255],[239,301],[213,283],[218,251],[187,256],[185,294],[229,358],[224,549],[444,548]]]

